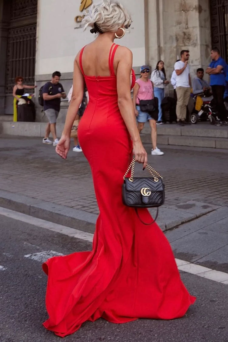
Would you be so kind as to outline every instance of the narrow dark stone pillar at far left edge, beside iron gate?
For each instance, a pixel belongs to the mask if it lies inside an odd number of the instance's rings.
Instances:
[[[9,22],[10,3],[0,0],[0,115],[5,114],[5,68]]]

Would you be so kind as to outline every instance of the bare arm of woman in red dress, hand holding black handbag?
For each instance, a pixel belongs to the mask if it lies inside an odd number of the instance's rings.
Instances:
[[[117,67],[117,93],[120,113],[133,142],[135,160],[143,163],[143,166],[146,167],[147,153],[139,136],[131,99],[130,75],[132,69],[132,52],[125,47],[119,47],[116,55],[119,59]]]

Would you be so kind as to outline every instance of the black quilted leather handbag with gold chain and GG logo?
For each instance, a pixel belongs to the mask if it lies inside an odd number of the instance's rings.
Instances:
[[[134,177],[135,158],[129,165],[128,170],[123,176],[124,183],[122,186],[122,199],[127,207],[133,207],[137,212],[137,208],[158,208],[165,201],[165,187],[162,181],[162,176],[147,164],[146,169],[152,177]],[[127,174],[131,170],[131,176],[127,178]],[[144,224],[150,225],[156,221],[158,217],[158,209],[156,218],[151,223],[143,222],[138,215],[138,218]]]

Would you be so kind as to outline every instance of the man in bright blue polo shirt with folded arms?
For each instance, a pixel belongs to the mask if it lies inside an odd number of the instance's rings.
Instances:
[[[210,86],[214,96],[216,109],[218,110],[218,116],[221,122],[218,125],[226,124],[227,111],[224,105],[224,92],[226,86],[226,73],[227,64],[220,56],[220,52],[217,48],[211,50],[212,62],[206,69],[206,73],[210,75]]]

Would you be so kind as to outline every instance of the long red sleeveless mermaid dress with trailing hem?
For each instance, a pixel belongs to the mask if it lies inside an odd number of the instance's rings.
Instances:
[[[114,48],[113,48],[114,46]],[[89,104],[78,128],[88,159],[100,214],[91,252],[53,257],[43,264],[48,275],[43,325],[64,337],[86,320],[112,323],[137,318],[173,319],[195,302],[183,282],[169,242],[156,223],[146,226],[134,208],[123,205],[123,175],[132,159],[132,141],[117,101],[117,80],[109,55],[110,76],[86,76]],[[135,77],[133,75],[133,84]],[[147,209],[139,211],[150,222]]]

